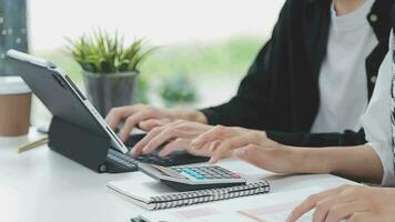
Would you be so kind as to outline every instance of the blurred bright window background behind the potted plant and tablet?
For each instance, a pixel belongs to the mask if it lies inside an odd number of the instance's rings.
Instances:
[[[14,74],[2,59],[20,49],[47,58],[83,89],[69,39],[92,30],[144,38],[155,48],[141,63],[135,101],[204,108],[236,93],[267,41],[284,0],[0,0],[0,75]],[[50,114],[34,100],[32,123]]]

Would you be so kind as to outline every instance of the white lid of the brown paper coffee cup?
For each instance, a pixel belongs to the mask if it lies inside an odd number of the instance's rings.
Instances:
[[[30,88],[20,77],[0,77],[0,94],[24,94]]]

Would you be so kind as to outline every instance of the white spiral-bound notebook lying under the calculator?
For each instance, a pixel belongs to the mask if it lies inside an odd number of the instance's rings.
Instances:
[[[270,191],[270,184],[266,181],[189,192],[174,192],[171,188],[152,180],[113,181],[109,182],[107,186],[113,193],[150,211],[263,194]]]

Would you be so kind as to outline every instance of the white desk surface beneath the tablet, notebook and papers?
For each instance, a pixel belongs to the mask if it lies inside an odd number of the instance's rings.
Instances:
[[[45,145],[17,154],[17,147],[34,138],[0,138],[0,221],[112,222],[146,213],[109,193],[112,180],[139,180],[140,172],[98,174],[49,150]],[[271,181],[272,192],[320,185],[333,188],[351,181],[333,175],[276,176],[236,160],[221,163],[249,176]]]

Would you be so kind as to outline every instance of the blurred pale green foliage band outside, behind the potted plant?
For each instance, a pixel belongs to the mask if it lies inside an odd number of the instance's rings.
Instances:
[[[172,85],[169,80],[178,81],[180,73],[199,81],[220,74],[226,74],[230,78],[244,75],[264,42],[264,39],[254,37],[233,37],[210,42],[185,42],[159,47],[141,63],[139,101],[148,102],[145,92],[151,80]],[[38,54],[61,67],[73,81],[82,81],[80,65],[64,49]],[[162,93],[163,97],[163,91],[158,93]]]

